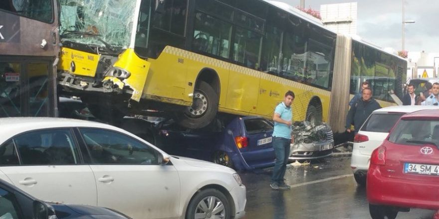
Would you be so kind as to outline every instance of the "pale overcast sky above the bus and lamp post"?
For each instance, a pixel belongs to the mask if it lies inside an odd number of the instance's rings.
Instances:
[[[278,0],[292,6],[300,0]],[[355,0],[305,0],[305,7],[320,11],[321,4]],[[380,47],[401,50],[403,0],[359,0],[357,34]],[[439,1],[405,0],[405,49],[409,52],[439,52]]]

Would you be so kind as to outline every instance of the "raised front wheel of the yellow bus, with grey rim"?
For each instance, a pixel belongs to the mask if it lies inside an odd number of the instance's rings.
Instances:
[[[192,106],[179,113],[179,124],[186,128],[203,128],[209,125],[218,112],[218,95],[206,82],[195,89]]]

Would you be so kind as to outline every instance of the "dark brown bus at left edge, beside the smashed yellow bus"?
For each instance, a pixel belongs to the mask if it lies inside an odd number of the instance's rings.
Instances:
[[[0,117],[55,116],[57,0],[0,4]]]

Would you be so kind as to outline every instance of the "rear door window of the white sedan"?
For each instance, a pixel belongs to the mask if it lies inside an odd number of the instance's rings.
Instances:
[[[14,138],[22,165],[77,164],[79,153],[70,129],[27,132]]]

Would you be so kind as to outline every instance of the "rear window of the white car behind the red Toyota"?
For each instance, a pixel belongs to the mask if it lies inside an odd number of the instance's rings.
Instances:
[[[390,132],[404,113],[373,113],[364,122],[361,131]]]

